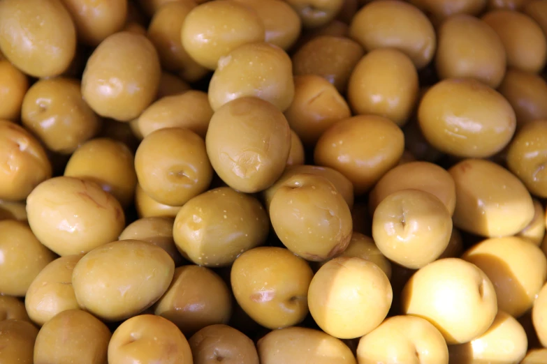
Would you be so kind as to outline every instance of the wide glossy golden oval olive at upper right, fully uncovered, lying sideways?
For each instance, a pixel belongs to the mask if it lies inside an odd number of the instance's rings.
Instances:
[[[418,121],[435,149],[462,158],[495,155],[516,129],[509,102],[475,79],[445,79],[432,86],[418,107]]]

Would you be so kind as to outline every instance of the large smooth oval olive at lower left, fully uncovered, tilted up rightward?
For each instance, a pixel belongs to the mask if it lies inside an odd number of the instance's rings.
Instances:
[[[159,246],[138,240],[108,243],[74,267],[78,305],[104,321],[120,321],[152,306],[166,292],[175,264]]]

